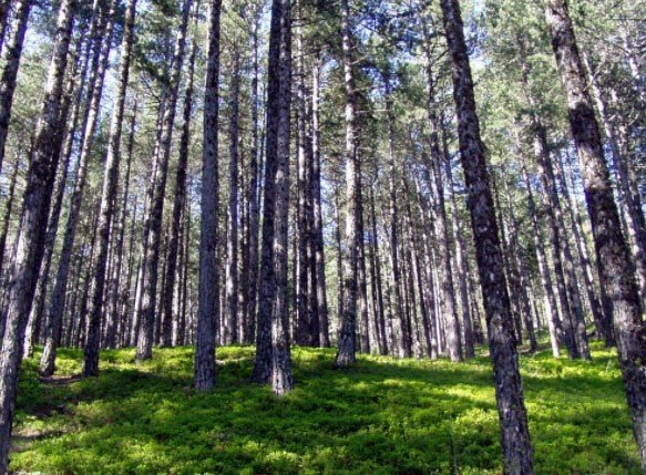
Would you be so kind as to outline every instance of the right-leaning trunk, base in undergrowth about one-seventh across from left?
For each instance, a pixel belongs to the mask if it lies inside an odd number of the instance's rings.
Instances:
[[[83,349],[83,376],[99,374],[99,344],[100,324],[103,312],[103,296],[105,292],[105,275],[107,267],[107,245],[112,217],[116,200],[119,164],[121,161],[121,135],[123,128],[123,114],[125,110],[125,94],[130,78],[130,63],[134,43],[134,19],[136,14],[136,0],[129,0],[124,32],[121,40],[121,63],[119,65],[119,80],[114,93],[114,106],[110,122],[110,135],[107,138],[107,154],[103,172],[103,185],[99,205],[99,223],[96,225],[96,247],[92,255],[92,299],[88,320],[88,337]]]

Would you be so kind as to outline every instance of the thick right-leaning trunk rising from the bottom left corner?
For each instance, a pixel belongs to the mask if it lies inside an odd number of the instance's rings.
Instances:
[[[13,264],[6,288],[9,304],[0,352],[0,473],[9,471],[9,443],[22,362],[22,343],[44,250],[47,227],[42,224],[48,219],[58,168],[58,163],[52,161],[55,157],[52,152],[64,89],[74,7],[74,0],[63,0],[59,7],[53,53],[41,115],[34,132]]]

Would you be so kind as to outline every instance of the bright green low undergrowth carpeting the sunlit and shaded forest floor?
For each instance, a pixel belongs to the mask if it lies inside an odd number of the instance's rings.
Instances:
[[[104,351],[81,380],[82,352],[59,352],[58,376],[25,360],[11,468],[44,474],[498,474],[491,363],[359,358],[295,348],[296,389],[249,382],[254,349],[218,348],[213,393],[191,388],[193,350]],[[536,472],[638,474],[614,351],[593,361],[522,357]]]

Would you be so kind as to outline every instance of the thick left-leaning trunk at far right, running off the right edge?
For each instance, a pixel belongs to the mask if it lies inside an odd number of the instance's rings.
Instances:
[[[585,198],[601,267],[608,289],[613,323],[635,438],[646,471],[646,327],[635,269],[613,198],[598,125],[578,55],[565,0],[546,0],[545,16],[567,101],[572,135],[583,176]]]

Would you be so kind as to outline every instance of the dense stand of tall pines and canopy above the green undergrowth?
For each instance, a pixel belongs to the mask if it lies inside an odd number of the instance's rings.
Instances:
[[[0,473],[34,352],[221,345],[485,351],[506,473],[519,349],[616,347],[645,464],[646,3],[568,3],[0,2]]]

